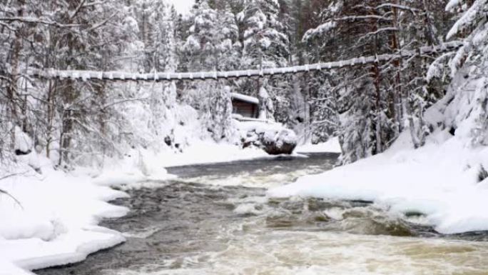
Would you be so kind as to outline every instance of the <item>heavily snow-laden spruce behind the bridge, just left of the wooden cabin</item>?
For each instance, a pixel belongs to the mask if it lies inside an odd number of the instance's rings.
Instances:
[[[238,65],[235,48],[239,47],[238,26],[230,8],[213,9],[207,0],[195,5],[190,17],[190,35],[183,45],[189,57],[189,71],[218,71]],[[213,139],[231,139],[230,89],[221,81],[207,81],[189,87],[187,102],[203,114]]]

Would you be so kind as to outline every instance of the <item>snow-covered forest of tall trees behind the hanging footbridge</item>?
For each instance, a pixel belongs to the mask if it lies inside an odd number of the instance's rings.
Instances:
[[[457,2],[446,12],[440,0],[200,0],[181,16],[160,0],[2,1],[1,157],[19,149],[16,135],[68,166],[126,147],[184,146],[188,131],[178,132],[178,124],[188,112],[205,125],[199,134],[233,142],[229,91],[266,101],[268,116],[303,141],[339,136],[343,163],[385,151],[403,131],[422,146],[432,131],[425,110],[444,97],[464,62],[482,62],[472,45],[263,79],[127,84],[24,73],[275,68],[395,54],[447,39],[484,43],[484,1]]]

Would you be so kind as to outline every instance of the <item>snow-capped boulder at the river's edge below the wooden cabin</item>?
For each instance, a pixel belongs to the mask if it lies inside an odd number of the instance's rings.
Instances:
[[[292,154],[298,139],[294,131],[270,121],[240,121],[243,147],[257,146],[270,155]]]

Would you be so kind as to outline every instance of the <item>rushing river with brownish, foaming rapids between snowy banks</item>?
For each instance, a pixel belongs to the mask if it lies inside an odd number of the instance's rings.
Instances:
[[[268,199],[266,188],[332,167],[310,154],[169,169],[177,181],[129,189],[131,212],[102,226],[127,241],[61,275],[488,274],[484,232],[442,236],[421,214],[392,216],[367,201]]]

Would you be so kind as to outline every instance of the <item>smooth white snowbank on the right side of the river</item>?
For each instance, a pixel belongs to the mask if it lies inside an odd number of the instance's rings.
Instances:
[[[406,134],[384,154],[303,176],[270,196],[317,196],[374,201],[396,214],[425,214],[441,233],[488,230],[488,148],[472,149],[465,140],[439,131],[414,150]]]

